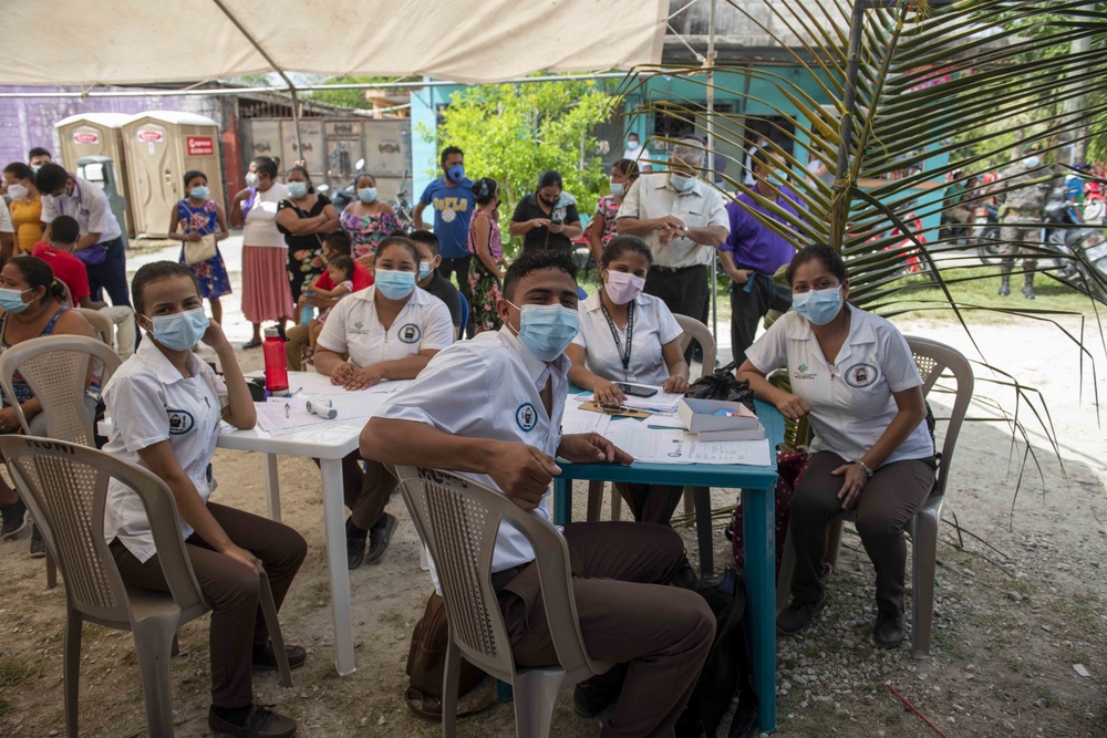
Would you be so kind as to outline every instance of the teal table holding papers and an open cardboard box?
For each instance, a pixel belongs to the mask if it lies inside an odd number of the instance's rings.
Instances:
[[[784,416],[757,401],[757,417],[772,448],[784,440]],[[625,423],[628,420],[620,420]],[[648,420],[646,420],[648,423]],[[643,428],[644,433],[649,433]],[[572,482],[576,479],[622,481],[677,487],[742,489],[742,533],[746,552],[746,606],[753,636],[754,690],[757,724],[763,732],[776,730],[776,465],[713,464],[571,464],[558,459],[561,474],[554,478],[554,522],[572,519]]]

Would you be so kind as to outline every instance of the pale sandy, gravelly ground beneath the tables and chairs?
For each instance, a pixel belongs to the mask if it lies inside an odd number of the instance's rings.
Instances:
[[[240,259],[225,247],[237,290]],[[170,250],[175,252],[174,250]],[[156,258],[133,258],[132,269]],[[225,324],[236,343],[249,337],[237,299],[225,300]],[[1065,326],[1079,334],[1080,321]],[[909,334],[934,337],[980,358],[952,323],[901,322]],[[1092,323],[1089,335],[1096,335]],[[962,432],[939,544],[933,658],[917,662],[907,647],[878,652],[871,643],[872,571],[856,536],[847,534],[830,582],[831,605],[799,638],[778,644],[782,736],[931,736],[906,711],[890,684],[950,736],[1107,736],[1107,457],[1096,398],[1107,397],[1107,355],[1098,337],[1082,356],[1056,328],[1036,321],[990,322],[973,329],[984,360],[1026,385],[1017,403],[1033,458],[1023,462],[1022,436],[986,402]],[[726,347],[724,347],[725,350]],[[247,368],[259,351],[239,352]],[[1093,374],[1093,361],[1094,371]],[[1008,380],[977,367],[977,396],[1016,408]],[[1037,393],[1041,393],[1039,395]],[[1099,401],[1103,402],[1101,399]],[[938,397],[938,415],[943,398]],[[1051,433],[1035,417],[1046,418]],[[1049,437],[1057,441],[1056,453]],[[265,513],[260,459],[219,450],[219,501]],[[308,540],[308,560],[281,613],[284,637],[304,645],[309,662],[294,686],[276,676],[255,682],[257,700],[300,720],[300,736],[434,736],[437,726],[410,715],[403,700],[404,664],[412,625],[431,591],[418,570],[417,539],[399,497],[390,510],[401,524],[377,565],[351,573],[358,672],[333,669],[328,575],[318,470],[303,459],[281,459],[284,520]],[[1017,488],[1017,496],[1016,496]],[[582,489],[575,517],[584,517]],[[716,507],[735,490],[713,490]],[[954,527],[954,520],[961,532]],[[693,552],[691,529],[682,529]],[[64,593],[46,591],[41,561],[27,557],[27,533],[0,544],[4,594],[0,599],[0,735],[64,732],[62,633]],[[716,539],[716,565],[730,542]],[[909,568],[910,572],[910,568]],[[180,634],[173,659],[178,736],[209,735],[207,622]],[[1082,664],[1092,674],[1074,669]],[[142,692],[131,637],[89,625],[84,630],[81,735],[139,736]],[[599,723],[572,714],[565,694],[555,735],[593,736]],[[463,736],[514,735],[510,705],[494,705],[458,724]]]

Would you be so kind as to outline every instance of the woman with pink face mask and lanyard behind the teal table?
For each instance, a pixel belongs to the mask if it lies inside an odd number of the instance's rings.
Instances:
[[[603,249],[603,287],[580,304],[580,333],[566,350],[572,361],[569,381],[591,389],[601,403],[621,403],[619,383],[684,392],[689,365],[681,351],[683,331],[658,298],[643,294],[653,254],[637,236],[617,236]],[[669,524],[682,488],[623,485],[615,489],[640,522]]]

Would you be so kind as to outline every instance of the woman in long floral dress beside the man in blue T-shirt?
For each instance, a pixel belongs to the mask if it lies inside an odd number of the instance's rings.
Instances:
[[[495,211],[499,207],[499,185],[484,178],[473,183],[476,210],[469,220],[468,249],[476,257],[469,267],[469,324],[474,332],[495,331],[500,320],[496,301],[500,298],[504,279],[504,247],[499,240],[499,224]]]

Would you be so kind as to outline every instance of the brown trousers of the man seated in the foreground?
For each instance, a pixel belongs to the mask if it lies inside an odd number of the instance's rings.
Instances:
[[[703,597],[664,584],[684,562],[681,537],[663,526],[589,522],[566,526],[565,540],[588,653],[624,665],[591,680],[612,690],[623,680],[601,735],[642,738],[671,730],[715,635],[715,616]],[[557,663],[537,568],[524,569],[499,600],[516,663]]]

